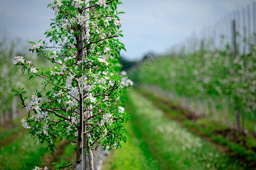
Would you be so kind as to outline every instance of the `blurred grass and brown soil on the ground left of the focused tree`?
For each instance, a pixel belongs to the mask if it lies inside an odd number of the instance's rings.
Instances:
[[[75,146],[64,139],[56,142],[55,156],[46,151],[46,145],[35,141],[20,120],[0,126],[0,169],[34,169],[35,166],[56,169],[52,162],[68,162],[76,158]]]

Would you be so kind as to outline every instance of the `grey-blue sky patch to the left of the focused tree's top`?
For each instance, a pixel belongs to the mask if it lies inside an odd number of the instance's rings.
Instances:
[[[0,28],[22,39],[39,40],[51,23],[53,12],[49,1],[3,1],[0,7]]]

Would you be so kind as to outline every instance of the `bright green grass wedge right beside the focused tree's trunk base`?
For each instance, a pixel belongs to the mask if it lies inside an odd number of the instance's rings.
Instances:
[[[136,129],[130,121],[127,122],[126,129],[127,142],[122,145],[121,150],[110,151],[111,156],[106,159],[104,169],[160,169],[148,150],[147,143],[134,133]]]

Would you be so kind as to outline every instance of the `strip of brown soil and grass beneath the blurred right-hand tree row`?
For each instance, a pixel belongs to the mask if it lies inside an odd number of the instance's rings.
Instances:
[[[256,143],[254,137],[230,130],[227,126],[208,117],[191,120],[193,113],[185,111],[171,100],[145,89],[139,89],[139,93],[150,100],[156,108],[161,109],[166,116],[178,121],[192,133],[214,143],[221,151],[241,160],[251,169],[256,168]],[[243,143],[241,144],[241,142]]]

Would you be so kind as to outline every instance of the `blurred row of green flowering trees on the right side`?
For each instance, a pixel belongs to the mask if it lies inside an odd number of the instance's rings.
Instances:
[[[187,97],[210,97],[216,101],[230,100],[238,109],[255,112],[256,51],[236,58],[226,51],[197,51],[180,56],[159,58],[160,66],[150,70],[143,83]],[[139,73],[142,79],[146,70]]]

